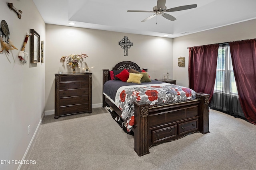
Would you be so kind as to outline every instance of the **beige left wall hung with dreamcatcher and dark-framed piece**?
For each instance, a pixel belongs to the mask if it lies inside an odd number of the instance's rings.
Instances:
[[[7,3],[22,10],[21,19]],[[45,41],[45,23],[32,0],[0,0],[0,6],[0,21],[7,22],[10,39],[18,48],[10,54],[0,53],[0,160],[22,160],[44,114],[45,64],[21,65],[18,52],[30,29],[35,29]],[[29,50],[30,42],[26,52]],[[0,164],[0,169],[16,170],[18,166]]]

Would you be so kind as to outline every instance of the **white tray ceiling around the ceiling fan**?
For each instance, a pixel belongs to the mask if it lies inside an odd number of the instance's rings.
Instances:
[[[180,37],[256,18],[256,0],[166,0],[166,7],[197,4],[197,8],[168,12],[140,22],[154,13],[157,0],[33,0],[45,23],[135,33],[169,38]],[[157,23],[157,24],[156,24]]]

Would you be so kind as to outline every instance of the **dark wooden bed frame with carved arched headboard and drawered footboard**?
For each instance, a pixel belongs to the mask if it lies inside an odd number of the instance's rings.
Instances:
[[[123,61],[112,70],[140,70],[131,61]],[[147,69],[144,69],[147,71]],[[103,85],[110,80],[110,70],[103,70]],[[138,156],[150,153],[149,148],[159,143],[174,141],[190,133],[209,133],[209,94],[196,93],[196,100],[150,107],[134,102],[134,150]],[[103,107],[110,106],[121,117],[122,111],[103,95]]]

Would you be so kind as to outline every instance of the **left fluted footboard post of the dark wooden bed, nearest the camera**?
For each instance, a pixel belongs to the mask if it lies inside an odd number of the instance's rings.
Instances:
[[[149,104],[134,102],[134,150],[138,156],[150,153],[148,143],[148,108]]]

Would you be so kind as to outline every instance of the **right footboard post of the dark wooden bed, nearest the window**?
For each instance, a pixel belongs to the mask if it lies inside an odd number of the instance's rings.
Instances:
[[[196,93],[196,98],[200,98],[200,108],[199,108],[199,131],[203,134],[210,133],[209,131],[209,98],[210,94]]]

